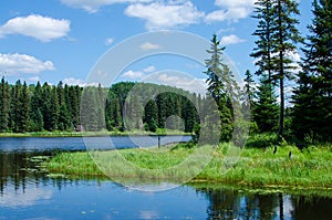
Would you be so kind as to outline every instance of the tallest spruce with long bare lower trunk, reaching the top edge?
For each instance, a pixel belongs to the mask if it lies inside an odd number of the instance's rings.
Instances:
[[[283,135],[284,124],[284,81],[292,80],[297,65],[290,54],[297,53],[295,44],[302,41],[294,18],[300,14],[295,0],[258,0],[256,15],[259,19],[253,35],[258,35],[257,48],[251,56],[258,59],[257,74],[268,73],[267,83],[279,85],[279,138]]]

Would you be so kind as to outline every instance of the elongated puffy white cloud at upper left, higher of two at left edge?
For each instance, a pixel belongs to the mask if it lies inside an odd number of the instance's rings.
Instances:
[[[9,34],[22,34],[42,42],[63,38],[70,31],[69,20],[58,20],[38,14],[17,17],[0,27],[0,38]]]

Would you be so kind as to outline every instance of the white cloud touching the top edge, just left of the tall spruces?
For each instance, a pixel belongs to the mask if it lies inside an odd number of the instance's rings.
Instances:
[[[249,17],[257,0],[216,0],[219,10],[208,13],[205,18],[207,23],[215,21],[236,22]]]

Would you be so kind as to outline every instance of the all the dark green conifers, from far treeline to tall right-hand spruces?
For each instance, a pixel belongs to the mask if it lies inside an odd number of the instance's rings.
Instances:
[[[287,2],[287,3],[284,3]],[[207,49],[207,94],[190,94],[180,88],[147,83],[122,82],[110,88],[56,86],[44,83],[27,85],[18,81],[0,84],[0,132],[107,130],[159,128],[199,134],[210,99],[217,105],[220,142],[229,142],[239,127],[235,117],[249,119],[250,134],[278,134],[278,139],[300,146],[332,142],[332,6],[313,1],[313,19],[305,38],[297,29],[300,14],[297,1],[256,2],[258,21],[252,56],[255,73],[245,73],[240,87],[222,61],[226,48],[212,35]],[[295,62],[291,54],[302,51]],[[256,82],[256,77],[259,82]],[[286,85],[293,82],[291,98],[286,101]],[[127,95],[136,90],[139,98]],[[240,106],[240,107],[239,107]],[[246,115],[243,108],[250,108]],[[238,111],[240,109],[240,111]],[[81,117],[80,117],[81,115]],[[170,117],[169,116],[178,116]],[[125,117],[124,117],[125,116]],[[141,119],[137,119],[141,118]],[[181,119],[179,119],[181,118]],[[127,123],[129,119],[131,123]],[[170,122],[169,122],[170,121]],[[134,123],[133,123],[134,122]]]

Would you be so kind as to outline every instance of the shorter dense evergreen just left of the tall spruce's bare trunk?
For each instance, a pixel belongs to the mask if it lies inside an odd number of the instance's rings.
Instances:
[[[260,78],[257,91],[257,102],[252,106],[253,121],[260,133],[277,132],[278,104],[272,84],[267,75]]]

